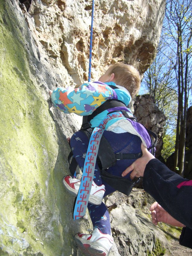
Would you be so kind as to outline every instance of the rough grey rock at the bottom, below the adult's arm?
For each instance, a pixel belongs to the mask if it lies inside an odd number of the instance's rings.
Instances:
[[[133,188],[130,196],[120,192],[108,196],[106,204],[110,211],[111,228],[121,256],[169,254],[168,237],[178,237],[180,231],[169,225],[159,224],[156,227],[152,224],[149,206],[153,202],[147,192],[137,188]],[[168,237],[160,230],[167,228]]]

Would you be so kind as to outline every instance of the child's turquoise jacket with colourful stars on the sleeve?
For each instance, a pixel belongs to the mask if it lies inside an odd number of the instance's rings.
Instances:
[[[115,85],[118,89],[112,89],[108,85]],[[114,82],[89,82],[76,89],[58,87],[53,90],[51,99],[53,105],[65,114],[87,116],[109,99],[121,100],[127,106],[131,101],[131,95],[128,90]],[[91,120],[92,127],[97,126],[107,113],[105,110],[95,116]],[[112,120],[110,125],[114,122],[115,120]]]

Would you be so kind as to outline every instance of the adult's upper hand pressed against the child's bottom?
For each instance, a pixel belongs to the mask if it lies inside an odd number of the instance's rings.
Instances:
[[[141,150],[143,155],[140,158],[138,158],[135,162],[133,162],[132,165],[127,167],[127,169],[125,169],[124,172],[122,172],[121,175],[123,177],[131,171],[132,171],[132,173],[130,174],[131,179],[133,179],[134,177],[140,177],[140,176],[143,177],[146,164],[148,164],[148,162],[155,157],[147,150],[147,148],[143,145],[143,143],[141,143]]]

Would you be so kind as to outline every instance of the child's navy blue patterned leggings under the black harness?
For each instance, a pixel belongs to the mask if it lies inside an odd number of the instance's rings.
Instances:
[[[108,140],[115,153],[139,153],[141,152],[141,139],[139,136],[124,133],[114,133],[110,131],[104,131],[103,136]],[[73,151],[73,156],[81,170],[83,170],[85,155],[87,152],[89,139],[84,132],[78,131],[73,134],[70,140],[70,146]],[[131,165],[135,159],[122,159],[117,160],[114,166],[108,168],[110,174],[122,177],[122,172]],[[130,180],[130,173],[124,177]],[[95,165],[94,182],[96,185],[105,185],[104,197],[115,191],[109,184],[101,179],[100,170],[98,164]],[[106,205],[102,202],[101,205],[94,205],[88,203],[88,210],[92,220],[93,228],[99,228],[104,234],[111,234],[109,212]]]

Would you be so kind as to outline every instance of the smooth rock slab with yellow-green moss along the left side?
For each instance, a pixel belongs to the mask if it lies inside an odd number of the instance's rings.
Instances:
[[[64,249],[62,228],[64,159],[30,70],[27,23],[17,19],[14,8],[11,1],[0,1],[0,255],[70,255],[70,236]]]

